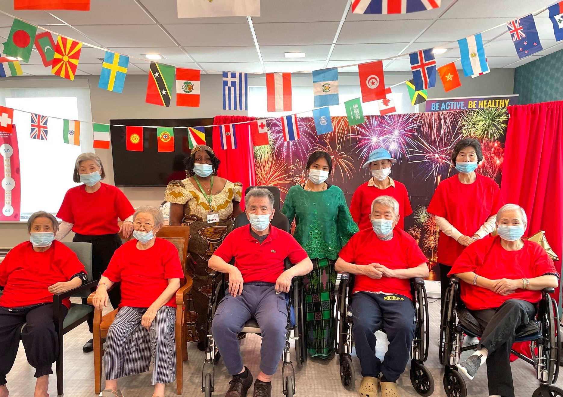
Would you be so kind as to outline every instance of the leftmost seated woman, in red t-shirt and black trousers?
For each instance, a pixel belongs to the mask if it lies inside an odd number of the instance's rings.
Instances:
[[[80,287],[88,278],[76,254],[55,240],[59,223],[50,213],[28,220],[29,241],[14,247],[0,263],[0,397],[8,395],[6,375],[14,365],[20,338],[35,367],[34,397],[48,397],[49,374],[59,354],[53,322],[53,294]],[[63,302],[66,316],[70,300]],[[22,325],[25,327],[22,329]]]

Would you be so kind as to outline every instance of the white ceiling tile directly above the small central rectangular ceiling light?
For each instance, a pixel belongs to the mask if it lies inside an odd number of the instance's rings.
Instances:
[[[338,22],[254,24],[260,46],[332,44]]]

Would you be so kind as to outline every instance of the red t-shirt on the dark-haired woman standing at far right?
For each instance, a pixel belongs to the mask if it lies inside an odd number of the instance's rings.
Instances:
[[[459,233],[473,234],[503,206],[497,182],[477,173],[470,185],[462,184],[457,175],[443,180],[428,204],[428,212],[446,218]],[[440,231],[438,262],[452,266],[465,246]]]

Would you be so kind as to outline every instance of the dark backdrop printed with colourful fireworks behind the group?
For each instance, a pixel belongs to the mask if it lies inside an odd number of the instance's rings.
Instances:
[[[484,161],[477,172],[500,184],[507,120],[506,108],[366,116],[365,123],[354,127],[346,117],[332,117],[334,131],[317,135],[312,117],[298,117],[301,139],[285,142],[280,119],[272,119],[270,145],[254,148],[257,183],[278,186],[283,200],[292,185],[306,181],[309,154],[324,150],[333,159],[327,182],[339,186],[350,204],[356,188],[371,177],[361,168],[369,153],[387,149],[399,161],[391,177],[405,184],[414,211],[405,218],[405,230],[426,253],[434,279],[438,228],[426,207],[437,184],[457,173],[453,146],[462,137],[479,139]]]

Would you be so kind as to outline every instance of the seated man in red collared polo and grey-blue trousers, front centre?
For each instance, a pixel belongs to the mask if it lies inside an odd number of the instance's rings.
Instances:
[[[286,231],[270,225],[274,196],[267,189],[253,188],[244,198],[249,226],[236,228],[209,258],[209,267],[229,274],[229,291],[213,317],[213,338],[233,376],[225,397],[244,397],[253,377],[244,367],[236,338],[244,323],[255,318],[262,334],[260,374],[254,397],[271,396],[271,377],[278,369],[287,332],[285,293],[294,276],[312,270],[312,262],[299,243]],[[235,265],[229,261],[235,258]],[[284,260],[294,264],[284,271]]]

